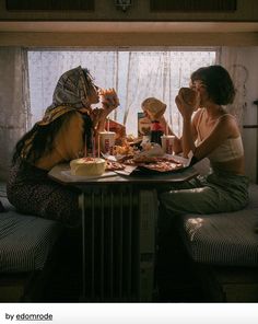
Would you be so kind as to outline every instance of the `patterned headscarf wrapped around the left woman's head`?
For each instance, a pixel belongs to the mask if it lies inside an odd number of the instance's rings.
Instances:
[[[68,112],[89,107],[89,95],[94,86],[89,70],[82,69],[81,66],[64,72],[59,78],[54,91],[52,104],[37,124],[45,126]]]

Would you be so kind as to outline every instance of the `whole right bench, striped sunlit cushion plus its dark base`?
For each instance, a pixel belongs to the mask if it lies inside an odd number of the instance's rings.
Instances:
[[[243,210],[186,215],[177,230],[206,301],[258,301],[258,185]]]

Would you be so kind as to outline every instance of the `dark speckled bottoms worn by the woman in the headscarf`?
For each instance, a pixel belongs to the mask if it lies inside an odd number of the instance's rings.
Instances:
[[[78,225],[81,221],[79,193],[51,181],[47,171],[17,161],[10,170],[7,194],[23,213]]]

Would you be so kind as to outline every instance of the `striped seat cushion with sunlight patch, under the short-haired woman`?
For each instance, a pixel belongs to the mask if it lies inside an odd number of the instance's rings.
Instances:
[[[183,218],[180,233],[196,262],[213,265],[258,265],[258,208]]]

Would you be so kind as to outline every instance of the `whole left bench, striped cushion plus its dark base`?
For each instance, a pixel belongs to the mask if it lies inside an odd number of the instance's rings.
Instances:
[[[52,220],[19,213],[0,184],[0,301],[40,301],[54,267],[52,253],[62,227]]]

